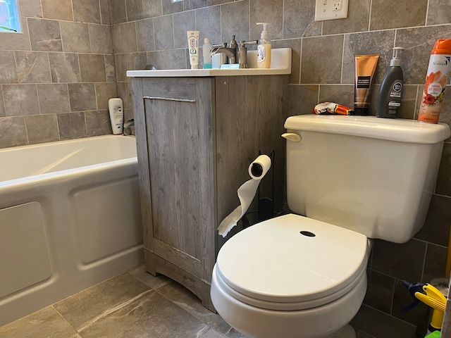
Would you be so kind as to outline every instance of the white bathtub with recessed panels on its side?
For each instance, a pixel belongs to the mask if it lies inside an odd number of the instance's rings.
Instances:
[[[0,326],[143,261],[135,137],[0,149]]]

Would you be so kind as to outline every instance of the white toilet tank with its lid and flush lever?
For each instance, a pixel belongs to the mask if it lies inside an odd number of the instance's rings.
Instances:
[[[298,115],[285,129],[291,211],[394,243],[423,227],[448,125]]]

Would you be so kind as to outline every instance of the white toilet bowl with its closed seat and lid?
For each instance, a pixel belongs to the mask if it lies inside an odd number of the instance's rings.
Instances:
[[[362,305],[369,248],[364,235],[319,220],[266,220],[221,248],[211,300],[249,337],[331,337]]]

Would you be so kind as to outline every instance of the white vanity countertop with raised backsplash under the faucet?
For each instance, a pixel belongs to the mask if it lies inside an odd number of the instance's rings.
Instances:
[[[257,59],[256,55],[257,51],[247,52],[249,67],[255,65],[254,58]],[[286,74],[291,74],[290,48],[272,49],[271,68],[127,70],[128,77],[206,77]]]

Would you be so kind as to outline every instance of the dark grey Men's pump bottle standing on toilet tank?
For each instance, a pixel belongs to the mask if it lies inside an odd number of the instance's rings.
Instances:
[[[401,59],[399,57],[401,47],[393,48],[393,58],[390,61],[379,89],[376,116],[378,118],[397,118],[397,111],[401,106],[402,84],[404,73],[402,73]]]

